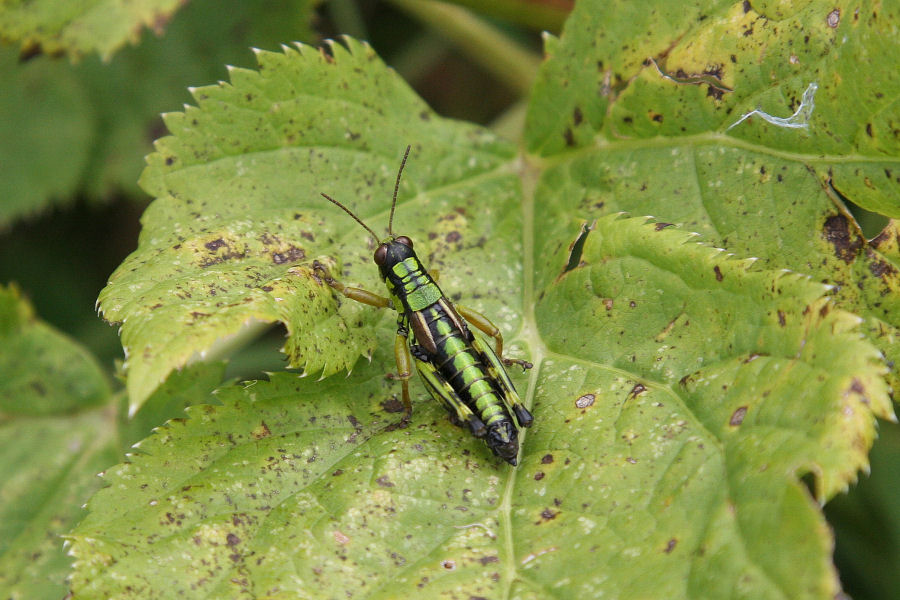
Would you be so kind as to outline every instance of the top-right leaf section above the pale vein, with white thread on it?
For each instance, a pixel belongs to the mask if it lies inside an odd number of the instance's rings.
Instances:
[[[549,44],[528,147],[701,136],[807,165],[860,206],[900,216],[898,17],[896,2],[580,2]],[[807,128],[753,118],[729,129],[754,109],[789,117],[810,83]]]

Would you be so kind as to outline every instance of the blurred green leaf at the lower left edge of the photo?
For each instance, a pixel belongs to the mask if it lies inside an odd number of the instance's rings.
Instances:
[[[73,341],[0,288],[0,597],[60,598],[62,534],[118,457],[109,387]]]

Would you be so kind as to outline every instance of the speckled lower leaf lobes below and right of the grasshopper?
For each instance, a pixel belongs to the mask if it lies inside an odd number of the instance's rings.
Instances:
[[[831,597],[798,478],[846,486],[889,411],[856,319],[644,219],[599,220],[580,262],[526,323],[520,468],[430,401],[390,431],[385,328],[351,379],[222,389],[110,470],[76,597]]]

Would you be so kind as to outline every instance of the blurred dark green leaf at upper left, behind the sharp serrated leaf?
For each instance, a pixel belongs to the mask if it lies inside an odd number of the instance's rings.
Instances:
[[[0,227],[78,194],[139,196],[159,113],[186,102],[188,85],[224,77],[226,64],[249,63],[248,46],[314,39],[314,4],[193,0],[164,24],[165,35],[109,62],[21,62],[15,48],[0,48]]]

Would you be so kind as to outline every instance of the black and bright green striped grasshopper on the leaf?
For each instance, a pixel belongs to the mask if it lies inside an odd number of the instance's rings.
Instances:
[[[397,311],[397,337],[394,341],[397,374],[388,377],[399,380],[403,389],[402,427],[409,423],[412,416],[409,379],[415,363],[428,392],[447,409],[450,420],[460,426],[468,424],[472,435],[484,439],[495,455],[515,466],[519,437],[511,415],[515,415],[519,427],[528,427],[534,417],[519,400],[504,365],[518,364],[523,370],[532,365],[520,359],[502,358],[503,336],[500,330],[484,315],[463,306],[454,306],[438,287],[435,278],[422,266],[413,250],[412,240],[405,235],[394,235],[397,191],[408,157],[409,146],[406,147],[394,184],[388,236],[382,240],[350,209],[331,196],[322,194],[353,217],[374,238],[378,245],[375,264],[381,271],[390,298],[345,286],[336,281],[319,262],[313,264],[314,272],[351,300],[377,308],[392,306]],[[496,352],[482,338],[473,335],[466,321],[494,339]]]

